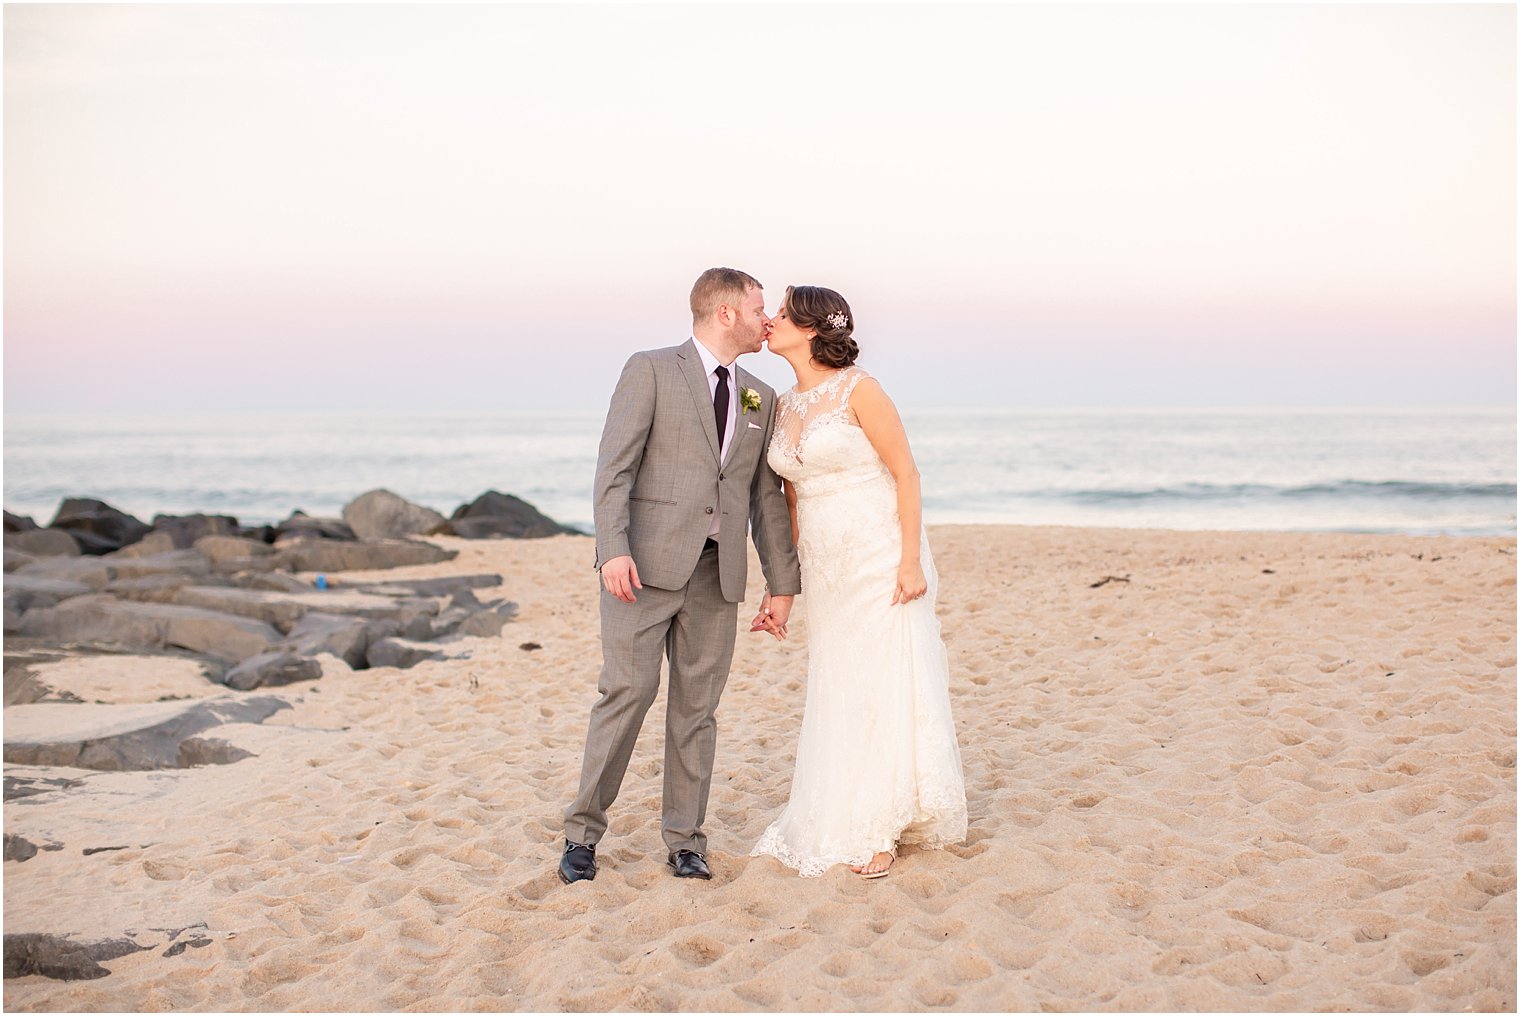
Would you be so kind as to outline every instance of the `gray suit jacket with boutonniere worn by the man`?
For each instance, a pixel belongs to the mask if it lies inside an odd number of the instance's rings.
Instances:
[[[775,595],[803,590],[781,481],[765,461],[775,391],[734,367],[736,389],[760,394],[760,411],[734,412],[728,459],[717,461],[713,397],[696,341],[634,353],[613,391],[596,459],[596,563],[632,555],[638,579],[681,589],[696,570],[719,516],[724,599],[745,598],[746,529]]]

